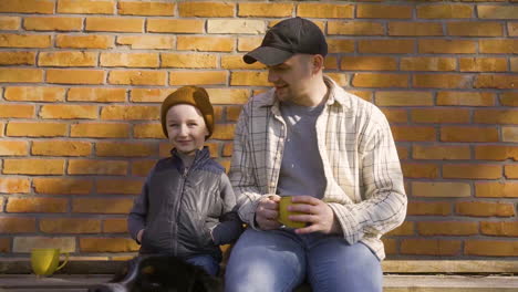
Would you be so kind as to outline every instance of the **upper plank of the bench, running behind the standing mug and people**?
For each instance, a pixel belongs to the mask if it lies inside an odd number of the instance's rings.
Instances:
[[[113,274],[124,261],[71,260],[58,274]],[[517,274],[518,261],[452,261],[452,260],[386,260],[384,273],[395,274]],[[31,263],[27,258],[0,260],[0,274],[30,274]]]

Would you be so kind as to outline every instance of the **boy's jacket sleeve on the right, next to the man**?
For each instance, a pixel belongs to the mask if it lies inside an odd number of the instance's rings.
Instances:
[[[236,196],[225,173],[221,174],[219,191],[224,208],[219,223],[211,231],[214,243],[217,246],[237,240],[242,232],[242,222],[237,213]]]

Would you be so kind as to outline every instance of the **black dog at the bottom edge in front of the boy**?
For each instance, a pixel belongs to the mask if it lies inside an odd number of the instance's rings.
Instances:
[[[169,255],[141,255],[127,261],[112,281],[89,292],[222,292],[221,280]]]

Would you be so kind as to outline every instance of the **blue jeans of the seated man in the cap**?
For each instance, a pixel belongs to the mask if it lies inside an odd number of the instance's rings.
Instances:
[[[248,228],[230,253],[225,291],[292,291],[304,280],[319,292],[381,292],[383,273],[380,260],[363,243]]]

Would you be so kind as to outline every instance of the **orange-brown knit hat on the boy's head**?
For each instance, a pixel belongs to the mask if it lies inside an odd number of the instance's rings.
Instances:
[[[210,135],[213,135],[214,131],[214,108],[210,104],[207,91],[197,86],[184,86],[179,87],[164,100],[160,107],[160,122],[162,129],[164,131],[166,137],[169,136],[167,134],[166,115],[169,108],[177,104],[190,104],[198,108],[199,112],[201,112],[201,116],[205,119],[205,125],[207,126],[207,131],[209,133],[205,139],[208,139]]]

